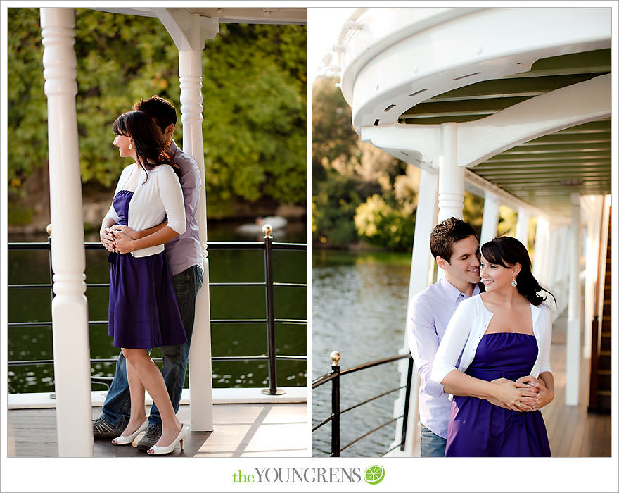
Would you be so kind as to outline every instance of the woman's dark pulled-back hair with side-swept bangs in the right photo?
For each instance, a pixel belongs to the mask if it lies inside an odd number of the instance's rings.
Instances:
[[[508,269],[516,265],[516,263],[520,263],[521,270],[516,275],[516,282],[518,282],[516,289],[532,305],[537,306],[546,301],[546,297],[537,294],[540,291],[550,294],[556,303],[554,294],[549,292],[548,289],[541,287],[540,283],[533,277],[529,252],[516,238],[509,236],[494,238],[481,246],[481,254],[488,262]]]

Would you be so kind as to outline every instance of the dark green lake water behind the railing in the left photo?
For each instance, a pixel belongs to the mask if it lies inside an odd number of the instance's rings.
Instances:
[[[255,242],[258,237],[245,237],[236,232],[239,223],[209,223],[209,242]],[[307,242],[307,223],[289,223],[285,230],[273,233],[274,242]],[[44,242],[46,235],[20,237],[12,235],[9,242]],[[98,235],[88,235],[87,242],[96,242]],[[307,254],[304,251],[274,251],[275,282],[307,283]],[[109,281],[107,251],[86,252],[88,283]],[[8,252],[9,284],[49,283],[47,251]],[[264,282],[263,251],[209,252],[211,282]],[[107,320],[108,288],[87,289],[89,320]],[[8,361],[51,360],[51,293],[49,289],[10,289],[8,291],[8,322],[40,322],[36,327],[9,327]],[[264,287],[211,287],[211,318],[265,318]],[[276,287],[274,289],[276,318],[307,319],[307,289]],[[260,324],[212,324],[213,356],[256,356],[267,354],[267,329]],[[305,325],[276,324],[277,353],[307,355]],[[112,345],[107,325],[90,327],[91,359],[115,358],[119,350]],[[153,357],[160,356],[153,349]],[[93,376],[113,376],[114,364],[93,363]],[[267,361],[215,361],[212,365],[215,387],[264,387],[268,385]],[[305,361],[278,361],[277,386],[307,385]],[[186,380],[186,387],[189,380]],[[93,389],[103,389],[94,384]],[[53,392],[52,365],[10,366],[8,392]]]

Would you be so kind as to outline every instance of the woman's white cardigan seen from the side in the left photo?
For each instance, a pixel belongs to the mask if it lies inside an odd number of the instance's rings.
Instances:
[[[172,166],[162,164],[155,166],[146,172],[137,163],[130,164],[122,170],[114,196],[123,189],[132,170],[140,173],[138,185],[129,202],[128,226],[132,230],[141,231],[156,226],[163,222],[167,216],[167,225],[182,235],[185,232],[185,205],[183,201],[183,189]],[[144,183],[146,180],[146,183]],[[118,223],[120,218],[114,210],[114,204],[106,214],[106,218],[112,218]],[[132,251],[134,257],[146,257],[163,251],[163,244],[149,246]]]

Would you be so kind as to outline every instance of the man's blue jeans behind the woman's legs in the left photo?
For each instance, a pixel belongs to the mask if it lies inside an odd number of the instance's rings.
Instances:
[[[193,334],[193,320],[196,316],[196,295],[202,286],[202,280],[203,270],[200,266],[191,266],[189,269],[172,276],[174,292],[177,295],[181,319],[187,335],[186,343],[161,348],[163,356],[161,373],[175,413],[179,410],[181,393],[185,383],[189,345]],[[129,422],[131,397],[129,395],[129,382],[127,382],[127,366],[122,351],[116,361],[114,379],[101,411],[103,411],[102,418],[113,428],[122,428]],[[155,404],[151,408],[148,424],[161,426],[161,416]]]

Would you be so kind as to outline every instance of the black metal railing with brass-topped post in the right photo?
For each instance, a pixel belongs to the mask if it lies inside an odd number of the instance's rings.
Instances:
[[[406,385],[402,385],[401,387],[396,387],[395,389],[390,389],[386,392],[381,392],[381,394],[377,394],[374,397],[370,397],[364,401],[358,402],[348,408],[340,410],[340,378],[344,375],[349,375],[350,373],[355,373],[357,371],[366,370],[368,368],[374,368],[376,366],[383,365],[385,363],[392,363],[393,361],[399,361],[402,359],[408,359],[407,366],[407,382]],[[344,451],[352,444],[359,442],[359,440],[368,437],[374,432],[381,430],[381,428],[385,428],[385,426],[390,425],[391,423],[395,423],[397,420],[402,419],[402,434],[400,437],[400,443],[396,444],[394,447],[386,450],[383,453],[388,454],[388,452],[397,449],[400,447],[400,450],[404,450],[406,446],[406,433],[407,433],[407,422],[408,422],[408,411],[409,411],[409,403],[411,399],[411,383],[413,377],[413,358],[410,354],[402,354],[400,356],[390,356],[388,358],[378,359],[376,361],[370,361],[369,363],[364,363],[359,366],[355,366],[354,368],[348,368],[347,370],[340,370],[340,366],[338,362],[340,360],[340,354],[338,351],[333,351],[331,353],[331,360],[333,363],[331,364],[331,373],[326,373],[321,377],[318,377],[316,380],[312,382],[312,390],[320,387],[321,385],[326,384],[327,382],[331,382],[331,415],[328,418],[322,420],[320,423],[312,427],[312,433],[321,426],[326,425],[326,423],[331,423],[331,457],[339,457],[340,452]],[[359,437],[352,440],[352,442],[346,444],[344,447],[340,447],[340,416],[348,411],[352,411],[352,409],[358,408],[359,406],[363,406],[364,404],[368,404],[371,401],[378,399],[379,397],[384,397],[385,395],[391,394],[393,392],[399,392],[402,389],[406,389],[404,393],[404,413],[402,415],[397,416],[397,418],[392,418],[381,425],[378,425],[376,428],[369,430],[368,432],[360,435]]]

